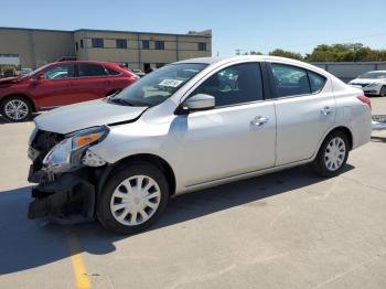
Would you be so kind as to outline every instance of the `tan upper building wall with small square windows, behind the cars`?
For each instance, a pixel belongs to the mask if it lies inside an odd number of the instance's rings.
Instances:
[[[93,47],[92,39],[103,39],[104,47]],[[117,39],[127,40],[127,49],[117,49]],[[144,69],[146,63],[156,67],[180,60],[212,55],[212,36],[208,35],[81,30],[75,32],[74,40],[78,43],[78,60],[127,63],[130,68]],[[149,41],[149,50],[142,47],[143,40]],[[156,41],[163,41],[164,50],[156,50]],[[200,42],[206,43],[206,51],[199,51]]]

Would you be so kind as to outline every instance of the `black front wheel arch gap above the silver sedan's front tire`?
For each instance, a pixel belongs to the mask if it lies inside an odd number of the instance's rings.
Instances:
[[[100,179],[98,182],[98,190],[97,190],[98,193],[100,193],[104,190],[104,186],[108,178],[112,173],[115,173],[115,171],[119,170],[120,168],[124,168],[125,165],[133,164],[136,162],[148,162],[156,165],[158,169],[160,169],[167,178],[169,189],[170,189],[170,192],[169,192],[170,195],[175,194],[175,174],[172,167],[163,158],[152,153],[131,154],[107,167],[103,175],[100,175]]]

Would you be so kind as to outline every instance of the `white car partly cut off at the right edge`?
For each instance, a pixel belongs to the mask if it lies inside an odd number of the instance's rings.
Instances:
[[[386,71],[367,72],[349,83],[366,95],[386,96]]]

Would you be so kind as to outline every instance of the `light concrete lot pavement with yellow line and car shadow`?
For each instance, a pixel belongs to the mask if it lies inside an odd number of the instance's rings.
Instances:
[[[337,178],[301,167],[181,195],[118,236],[26,218],[32,129],[0,120],[1,289],[386,288],[386,131]]]

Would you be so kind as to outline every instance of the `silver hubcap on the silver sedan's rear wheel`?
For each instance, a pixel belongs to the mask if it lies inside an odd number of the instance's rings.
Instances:
[[[324,152],[324,163],[330,171],[339,170],[346,156],[346,146],[340,137],[330,140]]]

